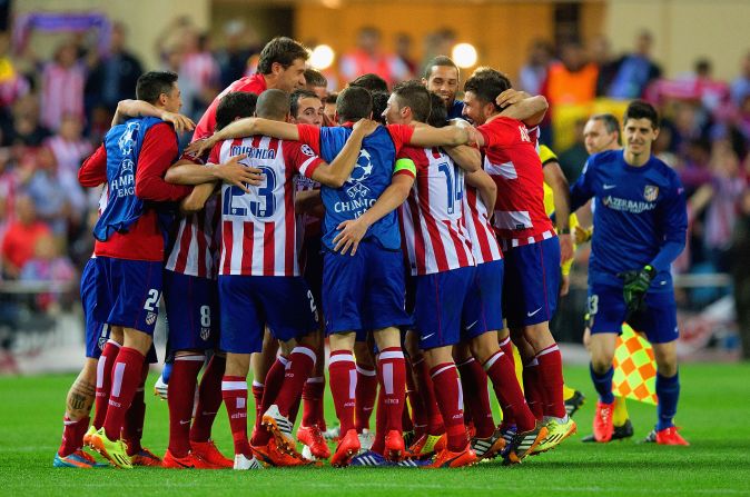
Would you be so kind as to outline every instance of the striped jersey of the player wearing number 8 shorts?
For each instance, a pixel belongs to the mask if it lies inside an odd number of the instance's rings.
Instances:
[[[180,160],[203,165],[200,157],[182,153]],[[214,195],[204,209],[180,217],[175,245],[165,269],[181,275],[216,279],[219,259],[219,200]]]

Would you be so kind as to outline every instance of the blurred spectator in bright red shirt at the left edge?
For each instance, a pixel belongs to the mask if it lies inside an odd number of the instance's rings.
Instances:
[[[16,199],[16,221],[11,222],[2,238],[2,271],[7,278],[17,279],[23,266],[31,260],[37,240],[50,235],[47,225],[37,219],[31,197]]]

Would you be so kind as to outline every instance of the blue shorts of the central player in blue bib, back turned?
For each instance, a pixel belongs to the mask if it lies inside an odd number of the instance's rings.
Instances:
[[[408,325],[404,298],[401,250],[364,241],[354,257],[333,251],[323,255],[326,335]]]

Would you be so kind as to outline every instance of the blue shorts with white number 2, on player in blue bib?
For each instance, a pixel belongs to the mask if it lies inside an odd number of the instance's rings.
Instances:
[[[161,262],[97,257],[93,319],[154,334],[161,298]]]

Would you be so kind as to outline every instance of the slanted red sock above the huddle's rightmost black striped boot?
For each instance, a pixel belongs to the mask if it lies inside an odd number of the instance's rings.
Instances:
[[[515,420],[519,431],[533,429],[536,418],[526,405],[513,362],[502,350],[497,350],[484,362],[484,370],[492,380],[500,407]]]

